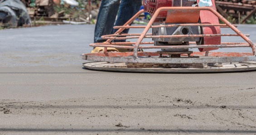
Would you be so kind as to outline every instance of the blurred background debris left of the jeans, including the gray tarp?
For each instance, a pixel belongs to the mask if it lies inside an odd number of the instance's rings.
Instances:
[[[99,6],[100,0],[0,0],[0,28],[95,23]]]

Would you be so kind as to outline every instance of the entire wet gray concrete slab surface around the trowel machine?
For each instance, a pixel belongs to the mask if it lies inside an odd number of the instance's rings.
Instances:
[[[256,26],[238,28],[256,42]],[[256,72],[83,69],[80,54],[91,51],[93,31],[94,25],[0,31],[0,135],[256,134]]]

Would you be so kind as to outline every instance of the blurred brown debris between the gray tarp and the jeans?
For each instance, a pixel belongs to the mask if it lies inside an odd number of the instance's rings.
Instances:
[[[96,19],[99,0],[23,0],[34,23],[91,23]],[[34,3],[33,3],[34,2]],[[92,6],[91,6],[92,5]],[[89,14],[90,12],[90,14]],[[93,22],[92,22],[93,23]]]

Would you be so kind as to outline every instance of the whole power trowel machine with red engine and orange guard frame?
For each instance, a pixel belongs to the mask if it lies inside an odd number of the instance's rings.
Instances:
[[[82,54],[83,66],[93,70],[121,72],[236,72],[256,70],[255,45],[216,11],[214,0],[143,0],[140,10],[116,33],[102,36],[100,53]],[[148,12],[152,18],[146,26],[130,26]],[[221,20],[224,24],[220,24]],[[143,28],[141,34],[122,34],[127,28]],[[234,34],[222,34],[231,28]],[[148,31],[152,29],[152,33]],[[244,43],[221,42],[222,36],[240,36]],[[112,40],[138,39],[136,42]],[[142,41],[150,38],[152,42]],[[249,47],[252,53],[217,52],[219,48]],[[130,49],[130,52],[108,52],[107,48]],[[194,49],[194,48],[198,48]],[[157,51],[145,51],[154,49]],[[238,48],[239,49],[239,48]],[[143,50],[143,51],[141,51]],[[193,50],[193,51],[192,51]],[[195,51],[197,50],[197,51]]]

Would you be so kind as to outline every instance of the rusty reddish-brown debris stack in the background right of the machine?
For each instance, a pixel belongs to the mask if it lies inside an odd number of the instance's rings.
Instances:
[[[217,0],[217,11],[231,23],[256,24],[256,0]]]

